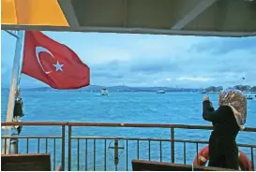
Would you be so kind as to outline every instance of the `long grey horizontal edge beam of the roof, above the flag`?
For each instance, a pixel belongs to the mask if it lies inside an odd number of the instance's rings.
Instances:
[[[40,30],[60,32],[98,32],[98,33],[124,33],[124,34],[147,34],[147,35],[177,35],[177,36],[221,36],[242,37],[256,36],[256,32],[226,32],[226,31],[187,31],[170,29],[148,29],[129,27],[94,27],[84,26],[79,28],[67,26],[40,26],[40,25],[9,25],[2,24],[2,30]]]

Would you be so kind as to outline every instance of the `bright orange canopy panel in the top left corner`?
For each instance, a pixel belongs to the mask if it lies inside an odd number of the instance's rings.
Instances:
[[[1,0],[1,24],[69,26],[57,0]]]

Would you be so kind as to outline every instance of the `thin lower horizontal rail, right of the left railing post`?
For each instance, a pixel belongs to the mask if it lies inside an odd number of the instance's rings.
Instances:
[[[71,139],[123,139],[123,140],[131,140],[131,141],[174,141],[181,143],[200,143],[200,144],[208,144],[208,141],[204,140],[187,140],[187,139],[168,139],[168,138],[142,138],[142,137],[118,137],[118,136],[71,136]],[[237,144],[239,147],[248,147],[248,148],[256,148],[256,145],[251,144]]]

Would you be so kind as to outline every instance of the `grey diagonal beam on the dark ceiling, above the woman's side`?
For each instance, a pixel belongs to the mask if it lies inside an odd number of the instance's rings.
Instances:
[[[188,12],[181,20],[173,24],[172,30],[181,30],[189,22],[196,19],[205,9],[212,6],[218,0],[201,0],[200,3]]]

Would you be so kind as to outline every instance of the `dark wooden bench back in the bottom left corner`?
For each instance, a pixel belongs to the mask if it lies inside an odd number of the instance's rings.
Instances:
[[[61,171],[59,166],[55,171]],[[1,171],[52,171],[50,153],[2,154]]]

